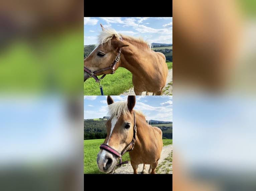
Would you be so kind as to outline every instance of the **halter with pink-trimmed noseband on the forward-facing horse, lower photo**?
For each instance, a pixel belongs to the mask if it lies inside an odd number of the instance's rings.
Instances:
[[[130,142],[130,144],[126,148],[124,148],[121,153],[119,153],[117,150],[115,150],[114,148],[110,147],[107,144],[103,143],[100,146],[100,149],[104,149],[104,150],[110,152],[111,154],[116,155],[118,157],[118,160],[120,159],[120,162],[119,162],[119,164],[117,164],[117,166],[121,166],[122,164],[129,163],[128,160],[122,162],[122,156],[125,152],[127,152],[127,151],[129,152],[129,151],[133,150],[135,141],[137,141],[137,139],[136,139],[137,128],[136,128],[136,124],[135,124],[136,121],[135,121],[135,112],[134,111],[133,111],[133,114],[134,114],[133,138],[132,138],[132,141]],[[132,146],[132,148],[130,150],[128,150],[131,146]]]

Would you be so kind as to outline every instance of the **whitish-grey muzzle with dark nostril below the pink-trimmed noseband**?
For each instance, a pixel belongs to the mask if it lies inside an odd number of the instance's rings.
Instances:
[[[113,154],[101,150],[97,155],[99,170],[104,173],[112,173],[115,170],[118,159]]]

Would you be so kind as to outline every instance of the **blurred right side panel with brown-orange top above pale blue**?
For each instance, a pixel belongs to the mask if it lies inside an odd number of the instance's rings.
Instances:
[[[173,190],[255,190],[256,2],[172,5]]]

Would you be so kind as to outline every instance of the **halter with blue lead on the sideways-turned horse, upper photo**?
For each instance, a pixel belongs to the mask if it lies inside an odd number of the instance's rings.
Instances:
[[[121,37],[120,40],[123,41],[123,38]],[[117,63],[119,62],[119,60],[120,60],[121,50],[122,50],[122,48],[119,48],[118,54],[117,54],[117,56],[116,56],[116,58],[115,58],[113,64],[111,64],[111,65],[110,65],[109,67],[107,67],[107,68],[103,68],[103,69],[101,69],[101,70],[97,70],[97,71],[93,72],[93,71],[90,71],[89,69],[87,69],[87,68],[84,66],[84,71],[85,71],[86,73],[88,73],[88,75],[89,75],[90,77],[93,77],[93,78],[95,79],[95,82],[96,82],[96,83],[99,83],[99,85],[100,85],[100,90],[101,90],[101,95],[104,95],[104,94],[103,94],[103,89],[102,89],[102,86],[101,86],[101,84],[100,84],[100,81],[106,76],[106,74],[103,74],[103,76],[102,76],[100,79],[98,79],[98,77],[95,76],[95,74],[98,74],[98,73],[100,73],[100,72],[104,72],[104,71],[110,70],[110,69],[112,70],[112,73],[111,73],[111,74],[115,74],[115,71],[114,71],[114,70],[115,70],[115,68],[116,68],[116,64],[117,64]]]

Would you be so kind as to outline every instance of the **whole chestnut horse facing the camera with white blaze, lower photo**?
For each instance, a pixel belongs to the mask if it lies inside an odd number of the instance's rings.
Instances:
[[[107,137],[97,154],[101,172],[112,173],[116,166],[128,163],[122,162],[122,155],[128,151],[133,174],[138,174],[139,164],[143,164],[142,174],[145,174],[145,164],[150,164],[148,173],[155,174],[163,149],[162,131],[149,125],[141,111],[133,109],[135,102],[135,95],[119,102],[114,102],[110,95],[107,97],[110,116],[106,122]]]

